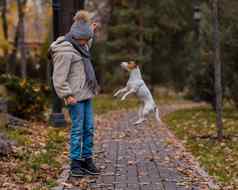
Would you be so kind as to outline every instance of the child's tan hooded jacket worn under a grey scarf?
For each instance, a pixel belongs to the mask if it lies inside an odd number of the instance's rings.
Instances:
[[[59,37],[50,46],[54,71],[53,84],[60,98],[74,96],[78,101],[94,97],[85,85],[84,64],[80,53],[64,37]]]

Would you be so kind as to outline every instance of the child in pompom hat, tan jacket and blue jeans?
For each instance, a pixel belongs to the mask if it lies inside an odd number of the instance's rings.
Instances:
[[[90,46],[96,24],[90,25],[89,13],[78,11],[70,31],[52,43],[53,84],[57,95],[68,106],[71,175],[99,174],[93,162],[94,115],[92,98],[98,83],[91,63]]]

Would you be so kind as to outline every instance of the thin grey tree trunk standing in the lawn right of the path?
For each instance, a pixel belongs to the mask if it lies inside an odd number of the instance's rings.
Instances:
[[[218,0],[212,2],[213,17],[213,46],[214,46],[214,67],[215,67],[215,94],[216,94],[216,127],[217,136],[221,140],[223,138],[223,122],[222,122],[222,73],[220,58],[220,31],[218,20]]]

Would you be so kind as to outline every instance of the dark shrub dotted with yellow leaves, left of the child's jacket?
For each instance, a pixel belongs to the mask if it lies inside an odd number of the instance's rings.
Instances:
[[[0,83],[6,86],[9,93],[9,113],[25,119],[42,117],[50,95],[47,85],[11,75],[1,75]]]

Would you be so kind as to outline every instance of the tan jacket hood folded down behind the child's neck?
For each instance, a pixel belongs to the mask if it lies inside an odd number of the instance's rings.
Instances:
[[[49,50],[52,53],[57,52],[74,52],[78,53],[77,50],[73,47],[73,45],[70,42],[65,41],[65,37],[61,36],[57,38],[56,41],[54,41],[51,45]]]

